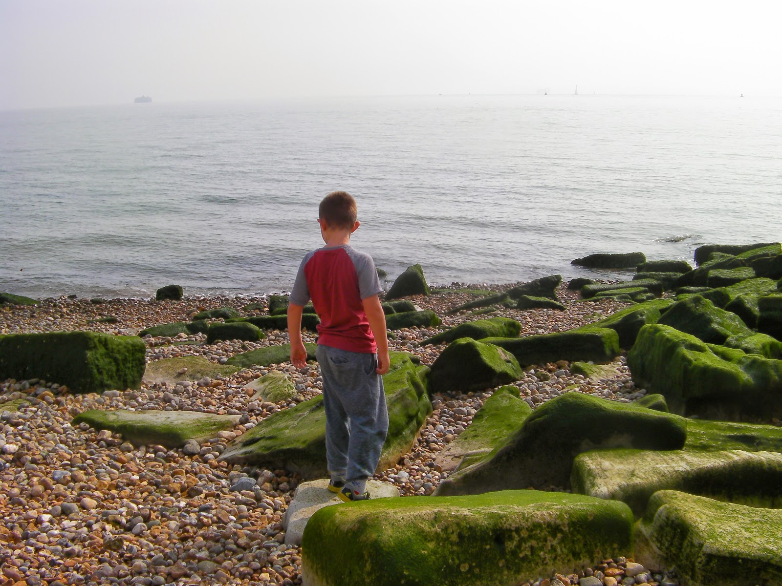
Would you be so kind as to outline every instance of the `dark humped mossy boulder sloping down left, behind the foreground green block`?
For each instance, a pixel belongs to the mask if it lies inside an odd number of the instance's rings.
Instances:
[[[441,481],[436,494],[569,488],[573,458],[594,448],[680,449],[682,417],[568,392],[537,406],[507,440]]]

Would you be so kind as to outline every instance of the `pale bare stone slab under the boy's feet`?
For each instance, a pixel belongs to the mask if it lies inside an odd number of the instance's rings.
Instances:
[[[307,521],[325,506],[341,505],[343,500],[328,490],[328,479],[303,482],[296,488],[293,500],[282,516],[285,545],[301,545],[301,537]],[[387,482],[367,481],[367,491],[372,500],[399,496],[399,490]]]

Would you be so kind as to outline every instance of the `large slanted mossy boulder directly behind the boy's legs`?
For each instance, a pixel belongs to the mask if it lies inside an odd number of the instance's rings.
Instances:
[[[432,413],[424,377],[427,366],[405,352],[391,352],[389,372],[383,375],[389,432],[378,470],[393,466],[410,451],[418,431]],[[228,463],[285,468],[303,477],[328,476],[326,469],[326,419],[323,395],[284,409],[261,420],[253,429],[225,448]]]

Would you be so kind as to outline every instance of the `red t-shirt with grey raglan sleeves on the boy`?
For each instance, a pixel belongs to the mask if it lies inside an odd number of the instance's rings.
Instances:
[[[377,352],[362,299],[382,292],[372,257],[350,245],[308,252],[299,266],[290,301],[312,299],[321,323],[317,343],[349,352]]]

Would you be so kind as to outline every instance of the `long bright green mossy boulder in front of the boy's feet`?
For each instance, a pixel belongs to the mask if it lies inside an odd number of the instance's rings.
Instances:
[[[302,578],[310,586],[515,586],[632,548],[633,515],[615,501],[541,491],[378,498],[310,518]]]

